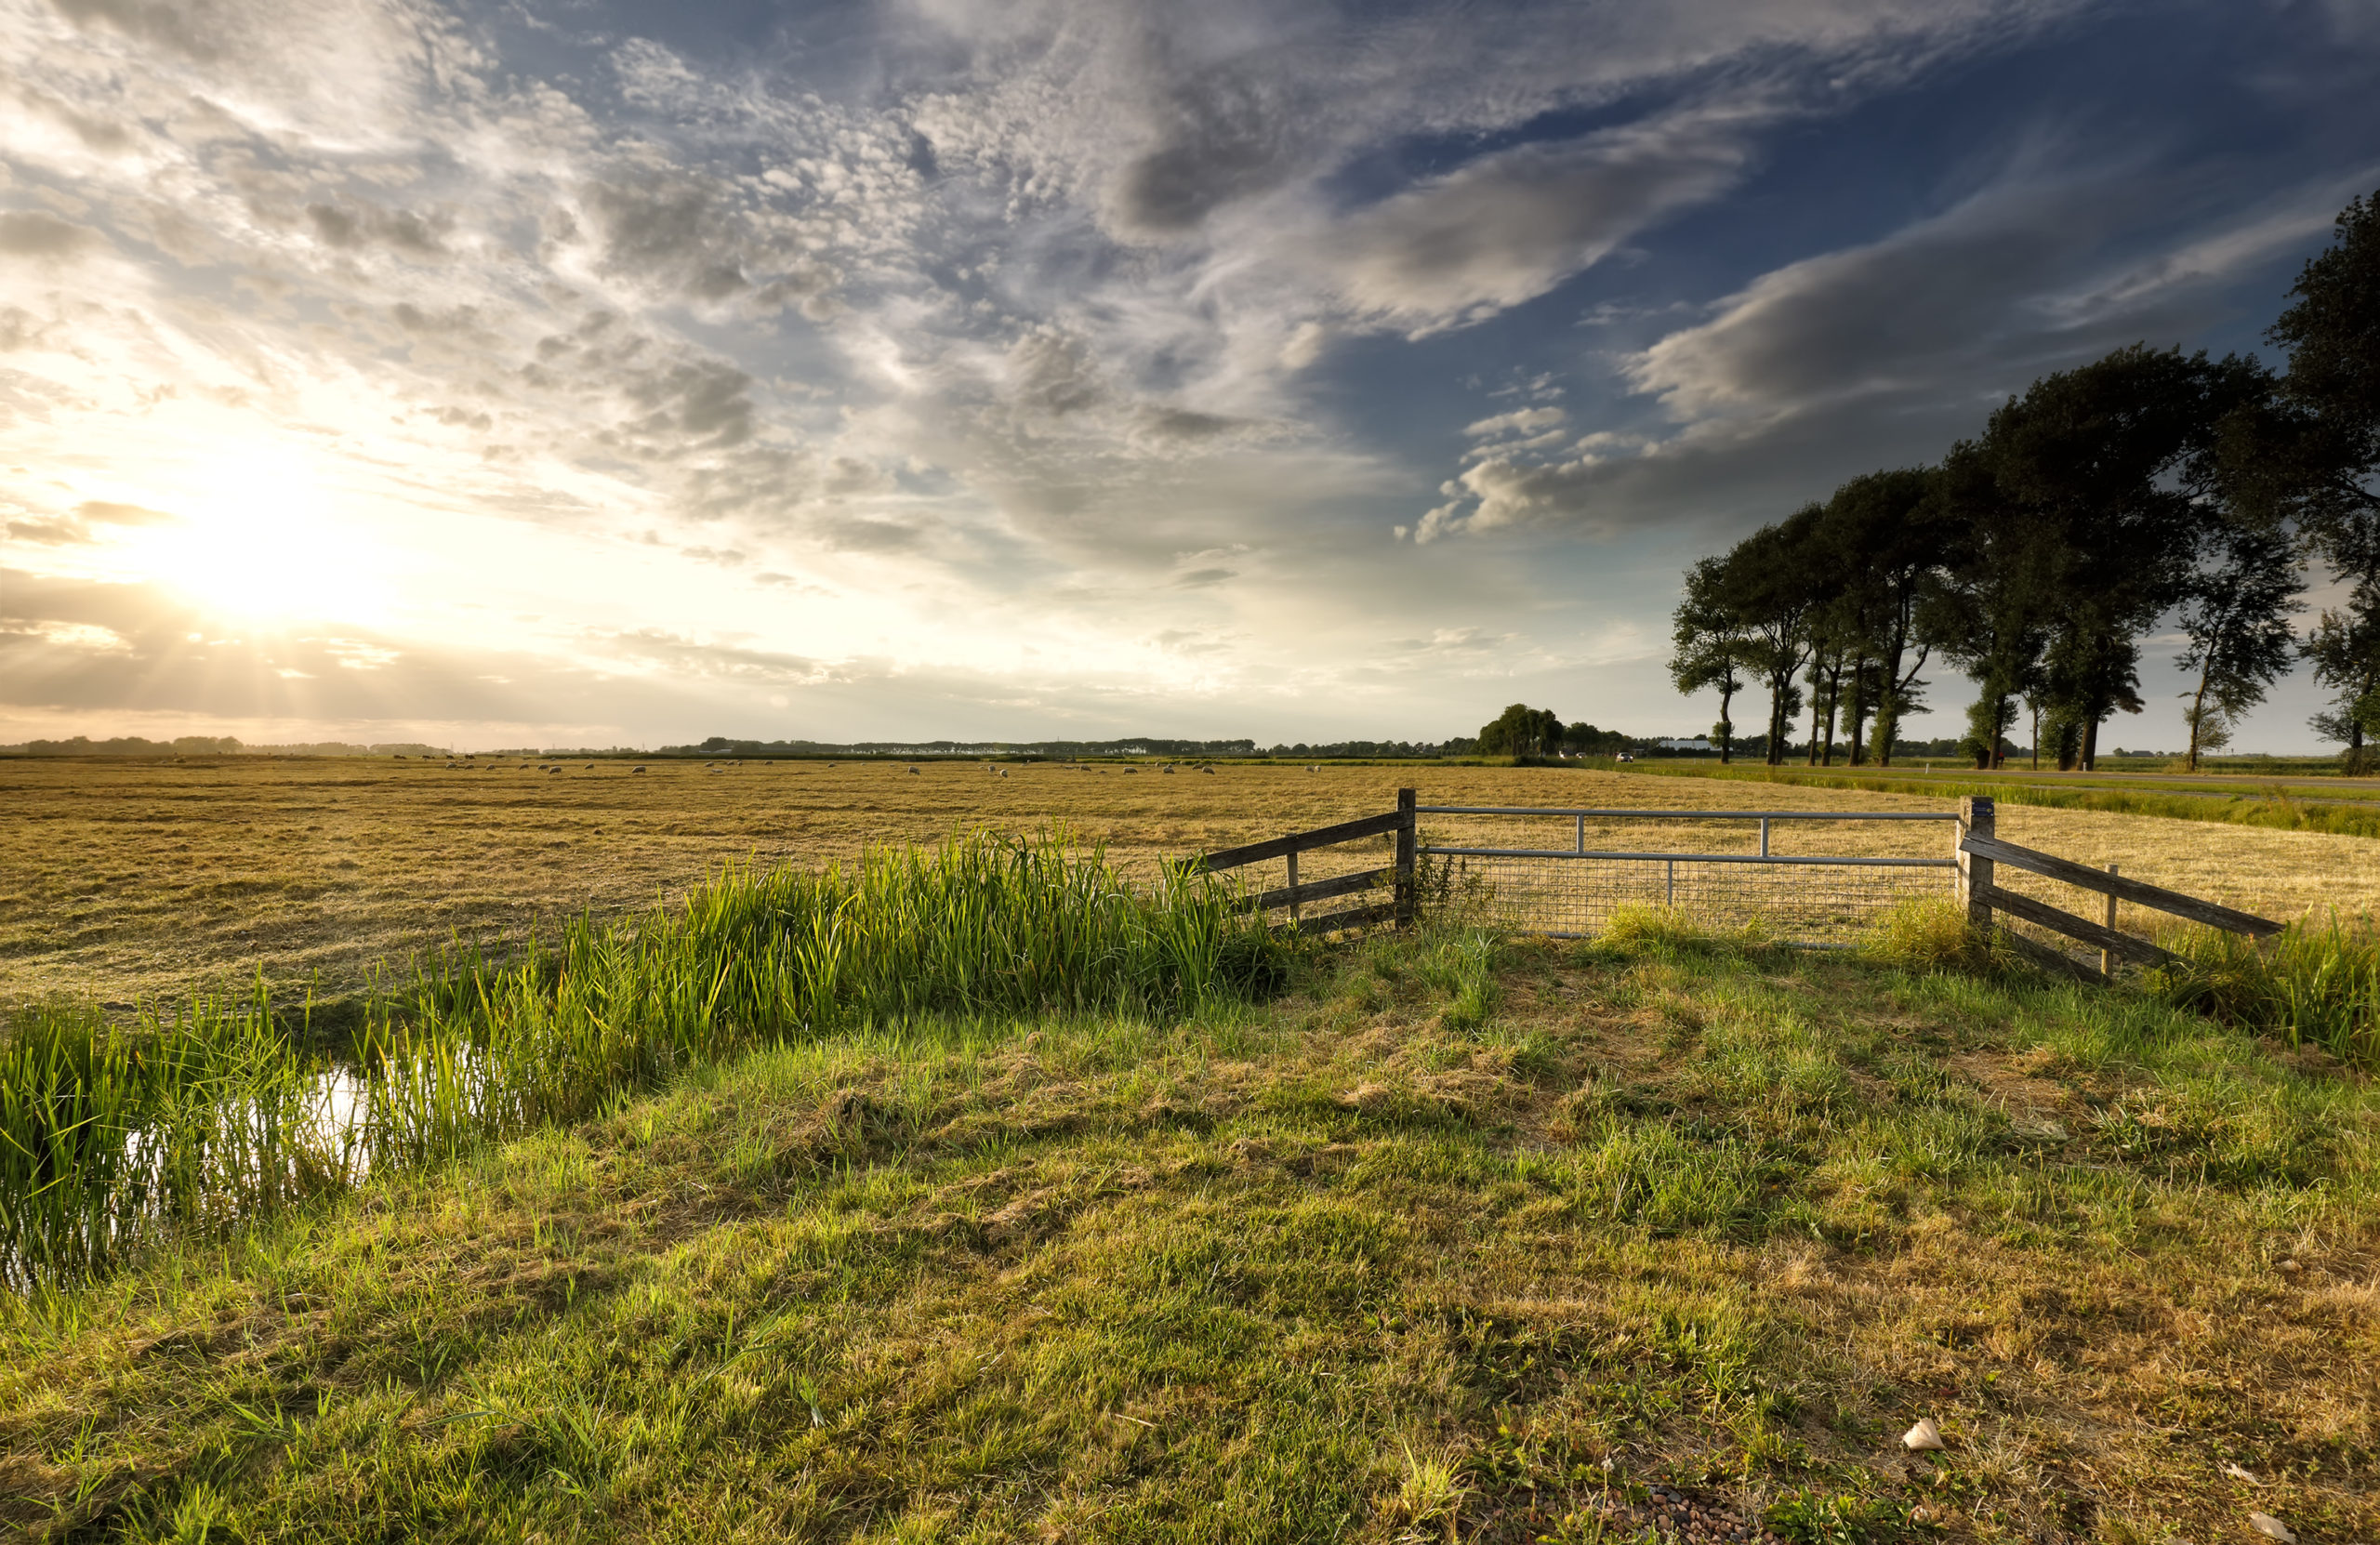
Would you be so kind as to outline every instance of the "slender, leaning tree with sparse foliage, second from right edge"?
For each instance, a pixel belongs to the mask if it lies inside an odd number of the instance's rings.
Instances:
[[[2261,524],[2221,526],[2209,543],[2213,562],[2192,576],[2180,626],[2190,648],[2175,659],[2197,671],[2197,688],[2182,693],[2190,707],[2190,771],[2202,750],[2221,750],[2240,714],[2263,702],[2297,652],[2290,617],[2301,569],[2287,533]]]

